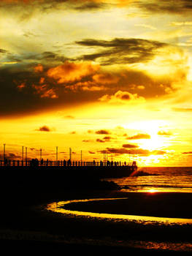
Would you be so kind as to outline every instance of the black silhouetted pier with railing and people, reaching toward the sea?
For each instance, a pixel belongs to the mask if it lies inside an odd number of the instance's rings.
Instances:
[[[16,184],[52,184],[67,180],[88,181],[101,178],[128,177],[137,170],[137,162],[84,161],[0,161],[1,182]]]

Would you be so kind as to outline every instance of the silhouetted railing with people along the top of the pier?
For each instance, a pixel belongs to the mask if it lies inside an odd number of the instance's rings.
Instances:
[[[17,166],[31,166],[31,167],[53,167],[53,166],[58,166],[58,167],[70,167],[70,166],[137,166],[137,163],[135,161],[133,162],[113,162],[113,161],[107,161],[107,162],[87,162],[87,161],[71,161],[71,160],[58,160],[58,161],[51,161],[51,160],[41,160],[39,161],[38,159],[31,159],[31,160],[0,160],[0,168],[5,167],[5,166],[12,166],[12,167],[17,167]]]

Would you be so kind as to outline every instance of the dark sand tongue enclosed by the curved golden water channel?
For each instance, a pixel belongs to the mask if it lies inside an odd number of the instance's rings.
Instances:
[[[65,208],[73,211],[90,211],[99,214],[192,218],[191,193],[118,192],[117,195],[122,195],[124,199],[70,203]]]

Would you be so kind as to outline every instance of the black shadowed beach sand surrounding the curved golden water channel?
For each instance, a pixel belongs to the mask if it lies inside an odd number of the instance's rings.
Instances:
[[[47,203],[100,197],[128,200],[74,203],[80,211],[192,218],[192,195],[187,193],[126,193],[115,190],[38,189],[1,191],[0,243],[7,252],[144,253],[191,254],[191,225],[145,225],[125,220],[111,221],[64,216],[45,211]],[[185,245],[188,246],[185,246]],[[186,250],[186,248],[188,248]]]

